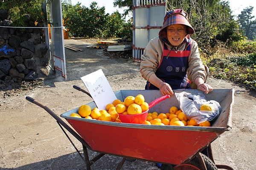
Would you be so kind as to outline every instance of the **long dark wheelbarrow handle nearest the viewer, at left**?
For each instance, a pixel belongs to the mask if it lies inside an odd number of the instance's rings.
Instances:
[[[52,112],[51,109],[49,109],[49,107],[45,106],[44,104],[41,104],[40,102],[36,101],[34,98],[31,98],[29,96],[26,96],[26,100],[30,101],[33,104],[38,105],[39,107],[45,109],[53,118],[55,118],[55,120],[61,124],[67,131],[69,131],[75,138],[77,138],[77,140],[79,140],[84,146],[86,146],[87,148],[90,148],[90,146],[84,141],[83,138],[81,138],[80,135],[78,135],[71,127],[69,127],[63,120],[61,120],[61,118],[58,117],[58,115],[56,115],[54,112]]]

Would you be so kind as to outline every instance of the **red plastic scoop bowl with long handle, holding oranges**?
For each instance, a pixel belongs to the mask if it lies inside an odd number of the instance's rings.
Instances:
[[[164,95],[164,96],[152,101],[150,104],[148,104],[148,110],[151,107],[153,107],[154,105],[158,104],[160,101],[165,100],[166,98],[170,98],[170,95]],[[135,115],[119,114],[119,118],[120,118],[120,121],[122,121],[122,123],[144,124],[144,122],[147,120],[147,117],[148,117],[148,110],[145,112],[142,112],[140,114],[135,114]]]

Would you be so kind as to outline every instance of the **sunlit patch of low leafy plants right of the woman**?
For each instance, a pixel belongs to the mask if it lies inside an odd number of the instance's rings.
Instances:
[[[215,49],[211,49],[210,55],[201,52],[201,59],[209,67],[210,76],[245,84],[256,90],[256,43],[243,44],[250,48],[240,46],[237,49],[239,53],[234,50],[236,46],[227,47],[225,44],[219,44]]]

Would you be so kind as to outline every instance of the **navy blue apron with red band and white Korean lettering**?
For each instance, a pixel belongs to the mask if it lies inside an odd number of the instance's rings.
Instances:
[[[191,53],[191,38],[185,51],[169,50],[163,43],[163,56],[155,75],[168,83],[172,89],[191,89],[187,79],[188,59]],[[158,89],[147,81],[145,89]]]

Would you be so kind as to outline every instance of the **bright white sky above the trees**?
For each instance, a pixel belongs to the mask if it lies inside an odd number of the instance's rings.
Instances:
[[[114,0],[71,0],[72,5],[80,2],[81,5],[89,7],[90,4],[95,1],[99,7],[105,6],[105,12],[112,14],[118,10],[119,13],[123,13],[123,9],[119,9],[118,7],[113,7]],[[252,16],[256,19],[256,0],[229,0],[230,1],[230,9],[233,11],[233,15],[237,16],[241,14],[241,11],[246,7],[253,6]]]

